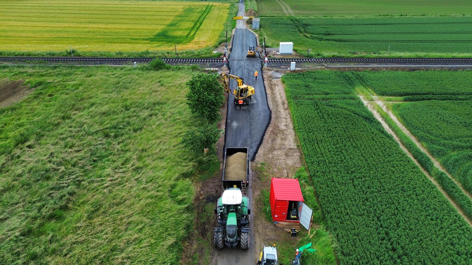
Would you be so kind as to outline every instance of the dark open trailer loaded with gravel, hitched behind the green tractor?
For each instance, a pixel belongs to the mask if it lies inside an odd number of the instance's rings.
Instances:
[[[249,181],[249,156],[247,147],[227,147],[223,164],[223,187],[239,188],[246,192]]]

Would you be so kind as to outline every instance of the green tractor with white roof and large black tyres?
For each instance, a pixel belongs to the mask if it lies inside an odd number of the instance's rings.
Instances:
[[[218,199],[215,214],[218,215],[218,227],[215,227],[214,244],[217,249],[236,248],[239,241],[241,249],[249,249],[248,198],[239,188],[229,188]],[[224,243],[224,245],[223,245]]]

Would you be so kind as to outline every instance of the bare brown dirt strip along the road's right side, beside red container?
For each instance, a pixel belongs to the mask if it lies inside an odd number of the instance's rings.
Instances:
[[[262,73],[267,101],[272,112],[269,127],[252,163],[252,168],[256,169],[253,170],[253,211],[256,213],[253,219],[254,248],[258,250],[264,245],[269,246],[278,241],[293,241],[293,244],[298,241],[298,238],[291,237],[290,233],[269,224],[266,220],[265,215],[270,209],[263,209],[261,191],[270,190],[271,177],[293,177],[296,170],[302,166],[301,153],[295,142],[295,130],[280,74],[273,73],[267,68],[264,68]],[[257,170],[261,163],[268,169],[267,171]]]

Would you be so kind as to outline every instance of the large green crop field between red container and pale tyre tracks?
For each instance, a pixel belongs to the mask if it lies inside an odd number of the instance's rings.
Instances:
[[[354,95],[353,73],[283,81],[341,264],[470,264],[470,226]]]

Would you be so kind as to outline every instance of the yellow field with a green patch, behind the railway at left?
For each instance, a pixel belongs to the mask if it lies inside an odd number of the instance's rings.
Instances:
[[[184,1],[1,0],[0,50],[143,51],[205,48],[229,4]]]

